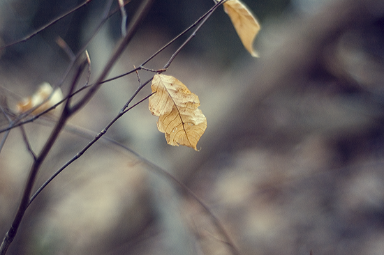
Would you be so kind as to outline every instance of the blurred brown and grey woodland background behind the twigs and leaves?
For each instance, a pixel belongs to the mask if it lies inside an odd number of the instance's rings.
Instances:
[[[140,3],[126,5],[128,21]],[[207,204],[239,254],[383,254],[384,2],[244,3],[262,26],[255,43],[260,58],[249,56],[219,8],[166,72],[200,98],[207,117],[200,151],[168,146],[142,102],[106,134],[141,157],[99,141],[31,204],[8,254],[232,254],[212,217],[153,164]],[[0,1],[0,45],[78,4]],[[109,77],[140,65],[213,4],[155,1]],[[77,53],[94,35],[105,6],[93,0],[3,49],[3,107],[12,111],[43,82],[61,85],[65,94],[73,71],[64,77],[70,61],[57,37]],[[117,11],[87,47],[91,81],[119,42],[120,26]],[[186,38],[145,66],[163,68]],[[146,81],[153,73],[139,75]],[[102,86],[71,118],[36,189],[118,114],[138,85],[132,74]],[[150,91],[144,88],[136,102]],[[51,114],[24,125],[36,153],[54,120]],[[8,125],[4,114],[0,121]],[[1,237],[13,221],[31,162],[22,133],[12,130],[0,153]]]

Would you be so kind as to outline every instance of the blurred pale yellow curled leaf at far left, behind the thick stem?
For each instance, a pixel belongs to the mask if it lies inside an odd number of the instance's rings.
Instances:
[[[22,114],[23,112],[29,111],[30,109],[40,105],[31,113],[33,115],[40,114],[41,112],[52,107],[53,105],[56,105],[62,99],[63,99],[63,93],[61,93],[60,88],[57,88],[55,91],[53,91],[52,86],[49,83],[44,82],[43,84],[40,85],[40,87],[38,88],[38,91],[36,91],[34,95],[28,98],[24,98],[24,100],[17,103],[16,113]]]

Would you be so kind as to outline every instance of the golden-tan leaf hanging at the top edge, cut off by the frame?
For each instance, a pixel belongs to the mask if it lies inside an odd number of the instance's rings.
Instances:
[[[260,25],[256,17],[240,0],[228,0],[223,3],[223,6],[246,50],[251,53],[252,56],[258,57],[258,52],[253,49],[253,41],[258,31],[260,31]]]

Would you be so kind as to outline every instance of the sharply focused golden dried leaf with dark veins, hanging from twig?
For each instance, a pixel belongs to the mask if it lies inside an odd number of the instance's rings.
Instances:
[[[207,118],[198,109],[198,96],[168,75],[155,75],[151,88],[156,93],[149,98],[149,111],[158,116],[157,128],[165,133],[167,143],[198,150],[198,141],[207,128]]]

